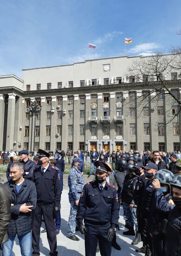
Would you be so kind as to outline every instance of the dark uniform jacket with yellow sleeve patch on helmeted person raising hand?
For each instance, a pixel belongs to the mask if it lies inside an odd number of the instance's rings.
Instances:
[[[165,232],[168,214],[175,207],[171,198],[170,194],[164,196],[160,189],[154,189],[147,221],[148,230],[154,236]]]

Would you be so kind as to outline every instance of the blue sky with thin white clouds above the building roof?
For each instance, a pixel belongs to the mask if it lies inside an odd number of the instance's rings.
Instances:
[[[0,75],[181,46],[181,0],[1,0]],[[88,43],[96,45],[88,48]]]

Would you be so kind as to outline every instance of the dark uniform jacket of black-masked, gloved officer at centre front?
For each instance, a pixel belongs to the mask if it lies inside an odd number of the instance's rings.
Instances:
[[[98,182],[88,182],[79,200],[78,225],[80,226],[84,219],[87,225],[104,225],[110,222],[112,228],[117,227],[119,210],[118,195],[113,185],[106,182],[101,193]]]

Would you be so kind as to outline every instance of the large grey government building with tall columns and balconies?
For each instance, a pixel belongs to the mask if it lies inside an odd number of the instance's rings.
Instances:
[[[0,76],[0,150],[181,149],[179,106],[161,81],[126,75],[142,56],[37,67]],[[177,73],[164,83],[180,98]],[[179,88],[180,84],[180,88]],[[31,115],[32,103],[38,111]]]

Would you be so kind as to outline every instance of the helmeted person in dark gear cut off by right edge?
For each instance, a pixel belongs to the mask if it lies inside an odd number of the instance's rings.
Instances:
[[[175,207],[170,211],[166,229],[165,255],[181,255],[181,175],[170,183]]]

